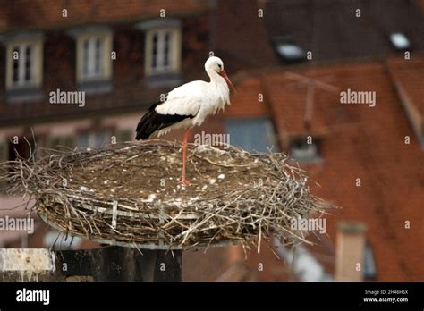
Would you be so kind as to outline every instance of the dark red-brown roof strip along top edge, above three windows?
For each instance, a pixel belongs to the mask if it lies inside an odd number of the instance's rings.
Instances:
[[[119,22],[204,12],[210,8],[199,0],[15,0],[0,4],[0,29],[50,28],[70,24]],[[67,10],[67,17],[62,16]],[[22,14],[22,11],[25,12]]]

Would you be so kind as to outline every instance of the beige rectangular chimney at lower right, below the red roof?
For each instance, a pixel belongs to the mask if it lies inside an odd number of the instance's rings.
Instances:
[[[335,281],[363,281],[366,231],[367,226],[364,223],[338,223],[335,249]]]

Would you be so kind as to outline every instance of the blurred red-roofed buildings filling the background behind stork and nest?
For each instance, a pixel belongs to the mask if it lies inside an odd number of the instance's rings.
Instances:
[[[240,247],[185,252],[184,280],[422,281],[420,0],[1,2],[0,162],[29,155],[24,137],[55,149],[132,140],[159,94],[207,79],[210,51],[238,93],[196,132],[291,155],[320,184],[313,192],[343,208],[325,216],[314,246],[275,240],[247,260]],[[375,92],[376,105],[341,104],[347,89]],[[85,105],[50,104],[57,90],[84,91]],[[10,210],[20,202],[2,195],[0,216],[24,216]],[[0,247],[50,247],[57,232],[37,228],[0,232]]]

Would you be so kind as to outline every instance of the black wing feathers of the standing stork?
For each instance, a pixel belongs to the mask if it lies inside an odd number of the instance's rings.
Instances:
[[[165,101],[167,94],[165,95]],[[157,130],[165,129],[177,122],[187,118],[194,118],[195,115],[186,114],[160,114],[157,113],[155,108],[157,105],[165,103],[165,101],[157,100],[157,102],[148,108],[148,112],[143,115],[140,122],[137,124],[137,135],[135,139],[148,139],[148,137]]]

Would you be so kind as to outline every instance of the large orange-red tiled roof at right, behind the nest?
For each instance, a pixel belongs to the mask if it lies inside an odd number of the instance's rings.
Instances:
[[[414,63],[391,63],[394,75],[405,85],[415,105],[422,107],[424,58]],[[318,90],[312,130],[324,130],[322,164],[305,165],[320,188],[321,198],[343,206],[327,219],[327,232],[335,244],[335,224],[360,221],[369,227],[368,237],[377,265],[378,281],[420,281],[424,276],[424,155],[394,89],[385,62],[326,65],[297,71],[326,80],[341,90],[375,91],[377,105],[342,105],[339,94]],[[263,73],[265,97],[271,107],[280,138],[303,130],[306,88],[293,83],[284,70]],[[233,110],[258,105],[257,95]],[[411,144],[404,143],[405,136]],[[356,187],[357,178],[361,186]],[[405,222],[411,229],[405,229]],[[313,249],[313,248],[312,248]],[[319,248],[317,248],[319,249]]]

